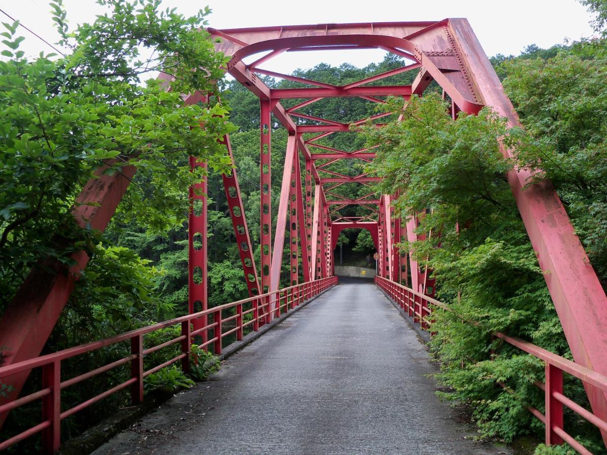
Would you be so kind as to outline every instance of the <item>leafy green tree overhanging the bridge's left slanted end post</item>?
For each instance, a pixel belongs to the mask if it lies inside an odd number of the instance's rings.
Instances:
[[[18,22],[4,24],[0,62],[0,292],[10,300],[34,261],[69,261],[56,235],[89,248],[92,232],[78,229],[69,214],[75,196],[93,175],[124,166],[138,168],[117,216],[153,231],[185,218],[183,188],[200,179],[187,156],[226,170],[229,159],[217,138],[231,127],[219,103],[182,106],[180,93],[215,93],[225,58],[198,27],[208,10],[191,18],[160,11],[156,0],[100,0],[110,8],[93,24],[68,33],[66,12],[52,2],[53,20],[71,52],[62,58],[28,60],[19,50]],[[147,58],[142,56],[145,50]],[[192,68],[197,68],[192,71]],[[171,91],[149,71],[170,73]],[[205,128],[199,128],[200,123]],[[112,160],[112,161],[108,161]]]

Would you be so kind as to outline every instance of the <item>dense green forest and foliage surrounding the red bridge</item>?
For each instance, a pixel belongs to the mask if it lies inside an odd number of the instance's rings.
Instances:
[[[190,172],[189,155],[209,163],[209,306],[248,296],[221,177],[232,164],[217,142],[226,133],[256,248],[254,257],[258,262],[260,257],[259,100],[236,81],[222,80],[225,57],[212,50],[206,33],[192,32],[206,23],[209,12],[185,18],[159,10],[154,1],[102,3],[112,10],[110,15],[70,31],[63,5],[52,2],[61,44],[72,51],[63,58],[41,55],[28,60],[19,50],[18,25],[5,24],[2,33],[7,46],[2,55],[9,59],[0,62],[0,315],[36,264],[55,258],[69,265],[74,248],[85,249],[90,257],[44,352],[188,311],[188,186],[205,177]],[[439,336],[431,347],[442,365],[438,380],[450,390],[443,396],[468,406],[483,438],[510,442],[543,432],[541,423],[524,408],[543,408],[543,394],[533,386],[543,377],[543,365],[493,340],[492,332],[520,336],[571,357],[503,177],[507,170],[535,169],[541,163],[592,265],[607,283],[607,2],[584,0],[583,4],[594,15],[599,38],[550,49],[529,45],[519,56],[491,58],[524,130],[507,130],[490,110],[460,116],[453,123],[438,87],[433,86],[423,98],[412,98],[404,107],[402,99],[387,99],[387,104],[378,106],[360,98],[325,98],[300,110],[340,121],[395,112],[382,119],[387,123],[382,129],[369,128],[364,135],[334,133],[317,144],[350,151],[379,146],[372,164],[341,160],[327,169],[345,175],[362,170],[382,175],[385,180],[375,190],[386,194],[398,190],[401,197],[395,209],[403,216],[431,207],[420,229],[440,231],[441,236],[402,246],[411,248],[421,261],[427,258],[439,298],[456,310],[457,317],[437,312],[433,330]],[[142,56],[142,45],[157,55]],[[161,64],[166,68],[167,62],[178,81],[172,92],[157,82],[143,84],[149,70]],[[364,68],[321,63],[294,75],[344,85],[403,65],[401,58],[388,54]],[[191,72],[194,66],[205,67],[208,73]],[[409,84],[414,77],[415,72],[405,72],[379,84]],[[215,85],[212,80],[222,83]],[[271,77],[263,81],[273,88],[303,86]],[[178,93],[202,89],[211,94],[209,103],[180,106]],[[288,108],[301,101],[283,104]],[[398,113],[403,114],[402,121],[396,120]],[[298,121],[310,124],[304,118]],[[200,123],[204,129],[198,128]],[[183,134],[184,130],[191,133]],[[498,138],[517,151],[515,160],[501,158]],[[286,144],[287,133],[274,122],[274,207]],[[124,172],[126,164],[137,166],[138,172],[117,216],[101,235],[80,229],[66,214],[83,184],[106,160],[115,160],[109,172]],[[370,191],[350,185],[335,190],[350,198]],[[368,209],[352,206],[342,213],[365,215]],[[275,226],[276,209],[273,215]],[[458,225],[466,228],[455,229]],[[347,245],[345,259],[356,265],[375,251],[367,231],[344,231],[339,244]],[[281,283],[287,285],[288,277],[285,254]],[[480,325],[463,323],[464,318]],[[174,335],[167,330],[158,337]],[[118,354],[100,351],[98,357],[80,359],[67,368],[74,373],[89,371]],[[161,363],[158,360],[149,362]],[[217,365],[209,363],[209,371],[214,368]],[[200,371],[194,379],[204,379],[209,371]],[[175,374],[177,379],[169,374],[152,377],[146,386],[152,390],[168,383],[188,384],[183,374]],[[73,400],[82,399],[90,390],[109,388],[115,380],[100,377],[70,393]],[[515,393],[504,391],[498,382]],[[566,383],[566,395],[577,402],[586,400],[577,382]],[[80,433],[83,422],[98,422],[126,401],[126,396],[117,395],[84,411],[83,419],[67,419],[66,437]],[[38,413],[35,406],[13,413],[18,417],[12,416],[3,431],[12,433],[19,425],[37,422]],[[566,418],[568,428],[575,428],[574,434],[588,447],[604,450],[592,428],[572,413]]]

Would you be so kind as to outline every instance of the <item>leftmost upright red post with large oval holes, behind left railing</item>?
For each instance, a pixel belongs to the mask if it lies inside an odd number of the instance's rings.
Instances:
[[[206,173],[206,161],[189,158],[190,168],[201,168]],[[189,188],[190,207],[188,214],[188,311],[189,314],[204,311],[208,308],[207,288],[207,206],[208,177],[205,175],[200,183]],[[203,328],[208,317],[204,315],[194,319],[194,330]],[[202,332],[203,342],[208,334]]]

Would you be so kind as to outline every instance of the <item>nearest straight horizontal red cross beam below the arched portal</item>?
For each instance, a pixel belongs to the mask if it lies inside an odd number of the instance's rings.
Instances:
[[[344,89],[343,87],[270,89],[272,99],[318,98],[319,96],[408,96],[411,93],[411,86],[365,86],[352,87],[351,89]]]

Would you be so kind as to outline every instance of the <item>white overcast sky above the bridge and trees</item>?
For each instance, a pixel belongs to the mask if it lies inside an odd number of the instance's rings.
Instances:
[[[101,12],[95,0],[64,0],[64,4],[70,27],[93,21],[95,14]],[[517,55],[529,44],[550,47],[565,39],[592,35],[588,24],[591,16],[575,0],[163,0],[163,7],[177,7],[185,15],[192,15],[205,4],[213,10],[209,25],[217,29],[465,17],[489,56]],[[271,5],[271,9],[265,10],[264,5]],[[47,41],[54,43],[58,39],[47,0],[0,0],[0,8]],[[0,14],[0,20],[5,22],[8,18]],[[19,34],[25,36],[21,49],[28,55],[37,55],[41,50],[52,52],[26,30],[20,29]],[[298,67],[307,69],[319,62],[349,62],[362,67],[381,61],[383,55],[380,50],[283,53],[263,67],[282,73],[291,73]]]

